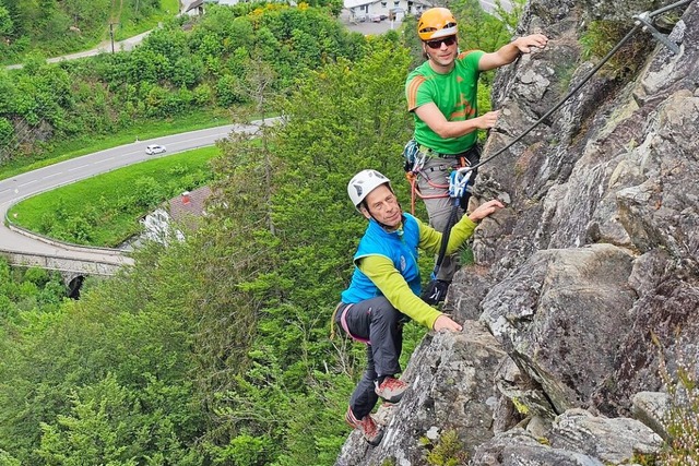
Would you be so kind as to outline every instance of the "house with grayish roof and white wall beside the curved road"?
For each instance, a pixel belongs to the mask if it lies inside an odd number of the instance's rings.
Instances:
[[[185,240],[185,230],[193,230],[206,215],[206,201],[211,198],[211,188],[203,187],[194,191],[186,191],[173,198],[165,205],[156,208],[141,219],[143,236],[151,240],[167,244],[171,238]],[[174,228],[177,225],[179,228]]]

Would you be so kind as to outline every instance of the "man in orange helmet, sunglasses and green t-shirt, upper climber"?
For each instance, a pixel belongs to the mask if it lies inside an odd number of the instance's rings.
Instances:
[[[413,113],[414,144],[419,167],[406,168],[416,177],[416,193],[425,201],[430,226],[443,231],[452,210],[449,198],[449,172],[475,165],[481,150],[477,130],[495,126],[498,111],[482,116],[477,108],[477,83],[482,71],[513,62],[531,47],[543,48],[543,34],[519,37],[494,52],[459,51],[457,20],[446,8],[426,10],[417,21],[417,34],[427,60],[408,74],[405,82],[407,109]],[[407,147],[406,147],[407,148]],[[471,172],[473,186],[477,169]],[[467,208],[469,189],[461,208]],[[451,282],[457,270],[453,256],[445,256],[437,279]]]

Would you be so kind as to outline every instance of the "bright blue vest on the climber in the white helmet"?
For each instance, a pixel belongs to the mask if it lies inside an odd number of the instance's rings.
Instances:
[[[403,229],[388,232],[374,219],[364,232],[354,263],[367,255],[383,255],[393,262],[393,266],[403,275],[411,290],[419,296],[420,277],[417,265],[417,244],[419,243],[419,227],[415,217],[404,214]],[[366,299],[382,296],[381,290],[374,285],[362,271],[355,266],[352,283],[342,295],[342,302],[354,304]]]

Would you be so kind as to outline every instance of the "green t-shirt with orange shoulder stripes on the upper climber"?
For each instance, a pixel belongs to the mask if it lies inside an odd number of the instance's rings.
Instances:
[[[478,116],[478,60],[485,52],[470,50],[454,60],[447,74],[435,72],[426,61],[408,74],[405,81],[407,109],[415,118],[415,141],[441,154],[467,151],[477,139],[477,131],[459,138],[442,139],[415,113],[415,109],[435,103],[448,121],[463,121]]]

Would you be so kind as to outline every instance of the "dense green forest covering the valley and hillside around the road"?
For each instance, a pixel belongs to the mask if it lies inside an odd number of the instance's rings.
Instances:
[[[451,8],[472,33],[464,48],[509,39],[477,3]],[[285,117],[221,143],[205,226],[146,244],[80,300],[2,263],[0,465],[330,465],[347,435],[364,350],[329,338],[364,228],[346,182],[376,168],[407,199],[414,23],[364,37],[331,9],[281,4],[211,8],[190,32],[181,21],[133,52],[0,74],[7,159],[42,134],[194,107]],[[423,332],[407,326],[404,359]]]

